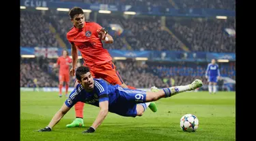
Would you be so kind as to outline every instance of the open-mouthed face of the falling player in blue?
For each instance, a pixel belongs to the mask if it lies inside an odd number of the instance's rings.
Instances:
[[[94,89],[94,78],[91,76],[91,73],[88,72],[82,75],[81,85],[83,85],[86,90]]]

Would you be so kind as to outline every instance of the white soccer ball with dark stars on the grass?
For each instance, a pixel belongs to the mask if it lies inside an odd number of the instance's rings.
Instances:
[[[199,120],[195,115],[186,114],[180,119],[180,127],[184,132],[195,132],[198,128]]]

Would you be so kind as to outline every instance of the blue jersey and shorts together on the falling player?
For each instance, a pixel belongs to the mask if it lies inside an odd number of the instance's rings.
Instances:
[[[109,112],[126,117],[137,116],[137,103],[146,102],[146,92],[139,89],[125,89],[120,85],[111,85],[102,79],[94,79],[94,89],[86,92],[81,84],[71,92],[65,101],[72,107],[76,102],[99,106],[100,102],[109,101]]]

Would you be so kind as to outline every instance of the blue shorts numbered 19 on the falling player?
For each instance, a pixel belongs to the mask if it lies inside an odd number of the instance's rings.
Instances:
[[[146,101],[146,92],[138,89],[125,89],[117,87],[117,100],[115,104],[109,106],[111,113],[122,115],[124,117],[137,116],[137,104]]]

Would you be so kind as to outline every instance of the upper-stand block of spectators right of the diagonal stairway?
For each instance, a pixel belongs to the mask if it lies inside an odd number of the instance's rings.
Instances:
[[[167,26],[194,52],[236,52],[236,38],[224,28],[234,28],[234,19],[168,18]]]

